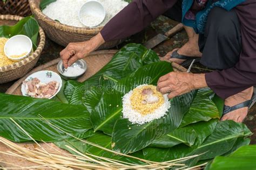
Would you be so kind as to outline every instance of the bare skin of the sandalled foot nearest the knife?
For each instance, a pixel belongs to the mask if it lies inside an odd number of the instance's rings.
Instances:
[[[191,38],[186,44],[184,44],[184,46],[182,46],[181,48],[173,49],[173,51],[167,53],[164,56],[165,59],[176,62],[180,65],[185,60],[171,58],[172,53],[174,51],[177,51],[177,49],[178,49],[178,54],[180,54],[180,55],[192,56],[192,57],[201,57],[202,56],[202,53],[199,51],[198,36],[195,38]]]

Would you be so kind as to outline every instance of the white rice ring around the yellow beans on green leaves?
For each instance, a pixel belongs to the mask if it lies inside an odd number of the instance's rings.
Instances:
[[[147,86],[147,84],[142,84],[138,86],[137,88]],[[160,107],[150,114],[142,115],[137,110],[133,110],[131,105],[131,96],[132,96],[133,90],[129,91],[129,93],[125,94],[123,97],[123,117],[129,119],[132,123],[137,124],[144,124],[147,122],[151,122],[154,119],[159,119],[161,117],[164,117],[167,114],[167,111],[170,109],[170,102],[167,97],[167,94],[163,95],[164,97],[164,103],[160,105]]]

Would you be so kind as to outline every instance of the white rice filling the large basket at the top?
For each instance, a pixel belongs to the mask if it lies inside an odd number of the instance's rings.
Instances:
[[[87,0],[57,0],[46,6],[43,13],[53,20],[58,20],[62,24],[85,27],[80,23],[78,17],[79,10],[85,2],[87,2]],[[99,26],[104,26],[111,18],[128,5],[127,2],[122,0],[99,0],[99,2],[103,4],[106,11],[106,17]],[[97,22],[97,20],[95,22]]]

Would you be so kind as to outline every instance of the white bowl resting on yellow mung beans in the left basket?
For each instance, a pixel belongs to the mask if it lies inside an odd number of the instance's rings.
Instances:
[[[17,35],[11,37],[4,45],[4,54],[10,60],[21,60],[26,58],[32,51],[32,41],[29,37],[24,35]],[[19,58],[13,58],[12,55],[21,55]]]

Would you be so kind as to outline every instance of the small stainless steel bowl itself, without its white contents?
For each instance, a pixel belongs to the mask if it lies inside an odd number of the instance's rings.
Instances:
[[[82,59],[76,61],[70,67],[80,67],[80,68],[84,69],[84,72],[82,74],[80,74],[80,75],[66,76],[66,75],[64,75],[65,68],[63,66],[63,62],[62,62],[62,60],[60,60],[58,65],[57,65],[57,69],[58,69],[58,72],[59,72],[60,76],[62,76],[63,79],[65,79],[65,80],[76,80],[76,79],[78,79],[78,77],[82,76],[86,72],[86,70],[87,70],[87,64]]]

